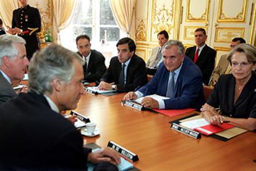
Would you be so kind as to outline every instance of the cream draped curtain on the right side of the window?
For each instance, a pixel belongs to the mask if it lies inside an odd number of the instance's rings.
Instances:
[[[119,28],[135,41],[136,0],[109,0],[109,2]]]

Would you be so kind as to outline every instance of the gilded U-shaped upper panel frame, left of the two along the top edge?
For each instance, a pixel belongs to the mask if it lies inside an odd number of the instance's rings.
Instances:
[[[186,22],[208,22],[208,9],[210,9],[210,0],[206,0],[205,11],[200,15],[200,17],[194,17],[192,12],[190,11],[191,1],[187,0],[187,10],[186,10]]]

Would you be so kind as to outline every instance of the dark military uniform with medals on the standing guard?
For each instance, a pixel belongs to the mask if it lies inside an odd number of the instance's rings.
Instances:
[[[41,31],[41,17],[38,9],[29,5],[15,9],[12,13],[12,28],[20,28],[21,36],[26,41],[26,51],[28,59],[40,48],[36,33]]]

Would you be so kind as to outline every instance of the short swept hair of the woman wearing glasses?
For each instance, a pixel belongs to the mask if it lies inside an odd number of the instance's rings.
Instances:
[[[242,43],[235,46],[228,54],[228,60],[231,63],[231,57],[235,52],[244,52],[248,62],[256,63],[256,48],[250,44]]]

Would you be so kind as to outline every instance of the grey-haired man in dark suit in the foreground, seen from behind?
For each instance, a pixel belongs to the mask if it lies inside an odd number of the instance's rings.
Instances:
[[[52,44],[36,52],[28,93],[0,107],[0,170],[86,170],[87,162],[113,162],[113,149],[91,152],[72,122],[59,112],[75,109],[84,93],[84,60]],[[107,163],[109,170],[116,166]]]

